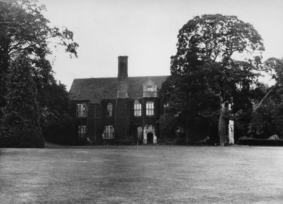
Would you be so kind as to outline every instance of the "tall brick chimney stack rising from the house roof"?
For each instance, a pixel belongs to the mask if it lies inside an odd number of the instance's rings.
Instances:
[[[117,98],[129,98],[128,56],[118,57]]]

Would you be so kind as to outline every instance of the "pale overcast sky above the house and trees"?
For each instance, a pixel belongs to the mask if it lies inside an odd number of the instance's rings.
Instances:
[[[193,16],[235,15],[264,40],[263,58],[282,58],[282,0],[39,0],[51,25],[66,26],[79,44],[78,58],[54,52],[55,78],[117,77],[118,59],[127,55],[129,76],[170,75],[179,29]]]

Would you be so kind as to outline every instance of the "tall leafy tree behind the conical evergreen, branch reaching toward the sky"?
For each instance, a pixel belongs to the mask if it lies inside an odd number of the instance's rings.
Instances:
[[[78,47],[73,42],[72,31],[50,26],[42,15],[45,10],[37,0],[0,1],[0,118],[1,107],[6,105],[5,95],[9,94],[6,86],[9,64],[23,53],[32,65],[31,76],[37,88],[43,132],[49,129],[51,122],[58,124],[59,120],[68,118],[69,105],[68,92],[54,79],[51,63],[46,57],[52,56],[52,50],[59,46],[65,48],[70,57],[77,57]]]

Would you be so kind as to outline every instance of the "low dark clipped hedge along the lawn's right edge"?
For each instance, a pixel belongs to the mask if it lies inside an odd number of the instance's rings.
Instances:
[[[283,140],[239,138],[238,145],[283,146]]]

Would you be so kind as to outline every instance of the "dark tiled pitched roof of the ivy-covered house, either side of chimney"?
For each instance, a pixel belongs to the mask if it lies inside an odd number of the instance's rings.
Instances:
[[[128,77],[131,99],[143,96],[143,85],[150,78],[160,89],[168,76]],[[102,99],[117,98],[117,77],[74,79],[70,88],[70,100],[90,100],[100,103]]]

